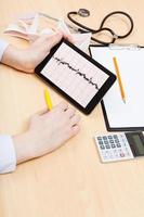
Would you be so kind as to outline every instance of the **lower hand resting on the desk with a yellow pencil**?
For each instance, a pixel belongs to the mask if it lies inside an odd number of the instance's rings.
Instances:
[[[54,151],[80,129],[80,116],[67,103],[60,103],[50,112],[31,117],[29,129],[14,136],[17,164]]]

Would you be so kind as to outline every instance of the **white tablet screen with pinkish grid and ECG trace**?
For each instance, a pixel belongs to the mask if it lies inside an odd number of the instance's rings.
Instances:
[[[108,75],[66,43],[56,50],[41,74],[86,107]]]

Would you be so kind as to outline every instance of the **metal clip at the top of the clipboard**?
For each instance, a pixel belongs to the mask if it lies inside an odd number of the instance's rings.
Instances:
[[[109,46],[110,50],[140,50],[142,47],[136,43],[110,43]]]

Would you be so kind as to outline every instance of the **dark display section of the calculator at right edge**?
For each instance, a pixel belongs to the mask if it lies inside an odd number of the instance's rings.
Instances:
[[[144,155],[144,136],[142,132],[128,132],[126,137],[130,143],[134,156]]]

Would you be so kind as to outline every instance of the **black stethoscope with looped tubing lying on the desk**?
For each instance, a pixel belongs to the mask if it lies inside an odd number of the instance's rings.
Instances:
[[[116,14],[120,14],[120,15],[122,15],[122,16],[126,16],[127,20],[129,21],[129,24],[130,24],[129,26],[130,26],[130,27],[129,27],[128,33],[126,33],[126,34],[123,34],[123,35],[118,35],[118,34],[116,34],[112,28],[105,27],[106,21],[107,21],[110,16],[116,15]],[[75,25],[78,26],[77,31],[79,31],[79,33],[88,33],[88,31],[90,31],[90,33],[92,34],[91,40],[94,41],[94,42],[104,44],[104,46],[108,46],[108,44],[110,44],[110,43],[114,43],[117,39],[122,39],[122,38],[128,37],[128,36],[132,33],[132,30],[133,30],[133,20],[132,20],[132,17],[131,17],[128,13],[126,13],[126,12],[123,12],[123,11],[114,11],[114,12],[107,14],[107,15],[103,18],[103,21],[102,21],[102,23],[101,23],[99,29],[93,29],[93,28],[89,28],[88,26],[84,26],[83,24],[77,22],[77,21],[74,18],[74,15],[79,15],[79,16],[82,16],[82,17],[88,17],[88,16],[90,16],[90,11],[87,10],[87,9],[79,9],[79,11],[71,11],[71,12],[68,12],[68,13],[67,13],[67,17],[69,18],[70,22],[73,22]],[[94,37],[94,35],[96,35],[97,33],[102,33],[102,31],[107,31],[108,34],[110,34],[112,39],[110,39],[109,42],[102,41],[102,40],[96,39],[96,38]]]

